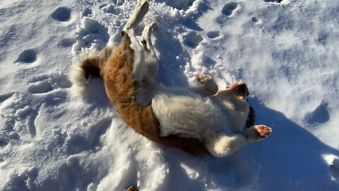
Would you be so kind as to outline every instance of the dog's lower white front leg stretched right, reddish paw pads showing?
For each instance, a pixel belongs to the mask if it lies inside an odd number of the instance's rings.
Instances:
[[[213,156],[225,157],[234,154],[246,144],[265,139],[270,132],[272,130],[269,127],[256,125],[238,134],[209,134],[205,139],[205,144]]]

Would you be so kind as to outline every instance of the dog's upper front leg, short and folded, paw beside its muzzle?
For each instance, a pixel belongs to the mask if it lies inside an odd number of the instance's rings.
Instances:
[[[203,86],[192,87],[191,91],[201,96],[213,96],[218,92],[218,85],[211,76],[205,74],[197,74],[196,80]]]

